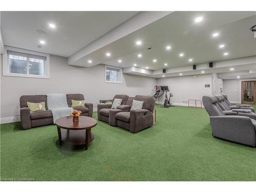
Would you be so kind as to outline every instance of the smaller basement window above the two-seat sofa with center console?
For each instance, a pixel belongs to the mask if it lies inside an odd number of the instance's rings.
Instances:
[[[105,82],[122,83],[122,68],[105,66]]]

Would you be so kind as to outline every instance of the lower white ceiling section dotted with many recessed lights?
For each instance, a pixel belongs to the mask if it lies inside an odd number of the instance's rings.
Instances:
[[[203,17],[202,22],[195,23],[195,18],[199,16]],[[81,62],[73,64],[86,67],[88,60],[92,60],[91,65],[102,63],[126,68],[136,63],[137,67],[148,67],[154,71],[253,56],[256,53],[256,39],[248,29],[255,22],[256,12],[172,12],[84,55]],[[219,35],[213,37],[214,33]],[[141,46],[135,44],[137,40],[142,41]],[[222,49],[219,48],[221,44],[225,45]],[[172,48],[166,50],[166,46]],[[110,57],[106,57],[107,52],[111,53]],[[228,55],[223,55],[225,52]],[[180,57],[180,53],[184,53],[184,56]],[[138,54],[142,57],[139,58]],[[189,62],[189,58],[193,61]],[[153,59],[157,59],[157,62],[153,62]]]

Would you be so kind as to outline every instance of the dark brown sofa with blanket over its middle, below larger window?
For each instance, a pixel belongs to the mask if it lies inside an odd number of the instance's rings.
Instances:
[[[67,94],[67,103],[71,107],[71,100],[84,100],[82,94]],[[27,102],[45,102],[46,111],[31,112]],[[47,95],[23,95],[19,98],[20,103],[20,123],[22,129],[27,130],[32,127],[53,124],[53,116],[51,110],[48,110]],[[74,108],[82,111],[83,116],[92,117],[93,104],[86,103],[80,108]]]

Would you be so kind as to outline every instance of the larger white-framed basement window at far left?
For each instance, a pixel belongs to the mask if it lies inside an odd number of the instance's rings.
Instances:
[[[6,47],[3,75],[49,78],[49,54]]]

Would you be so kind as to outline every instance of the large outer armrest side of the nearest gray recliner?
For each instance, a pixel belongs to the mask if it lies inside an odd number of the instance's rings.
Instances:
[[[210,124],[214,137],[256,146],[256,130],[249,117],[212,116]]]

